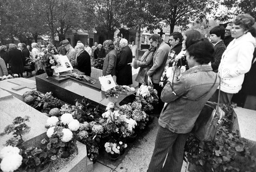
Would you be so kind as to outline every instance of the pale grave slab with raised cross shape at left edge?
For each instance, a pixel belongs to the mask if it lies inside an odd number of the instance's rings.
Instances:
[[[35,81],[26,78],[6,79],[0,82],[0,88],[8,91],[22,101],[22,95],[26,91],[36,90]]]

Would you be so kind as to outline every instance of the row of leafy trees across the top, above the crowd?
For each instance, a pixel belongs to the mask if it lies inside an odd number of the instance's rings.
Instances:
[[[220,4],[223,9],[220,8]],[[1,0],[0,39],[14,38],[23,42],[32,35],[51,35],[59,41],[74,30],[93,28],[105,34],[107,39],[121,25],[153,31],[170,25],[188,28],[188,24],[205,23],[207,15],[227,21],[240,13],[256,17],[254,0]],[[139,42],[140,40],[138,40]]]

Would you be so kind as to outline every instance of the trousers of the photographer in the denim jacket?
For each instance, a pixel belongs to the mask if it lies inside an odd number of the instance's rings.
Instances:
[[[160,126],[147,172],[180,172],[183,164],[184,146],[188,136],[189,133],[173,133]],[[165,158],[166,163],[163,166]]]

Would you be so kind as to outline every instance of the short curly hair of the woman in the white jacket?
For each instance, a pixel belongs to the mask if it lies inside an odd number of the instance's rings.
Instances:
[[[240,25],[246,31],[249,30],[254,23],[254,18],[249,14],[241,14],[233,20],[233,24]]]

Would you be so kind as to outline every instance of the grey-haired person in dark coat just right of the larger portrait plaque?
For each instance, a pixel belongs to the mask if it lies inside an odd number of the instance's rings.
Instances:
[[[90,55],[84,50],[84,44],[81,42],[76,44],[76,56],[76,68],[84,72],[85,75],[90,76]]]

